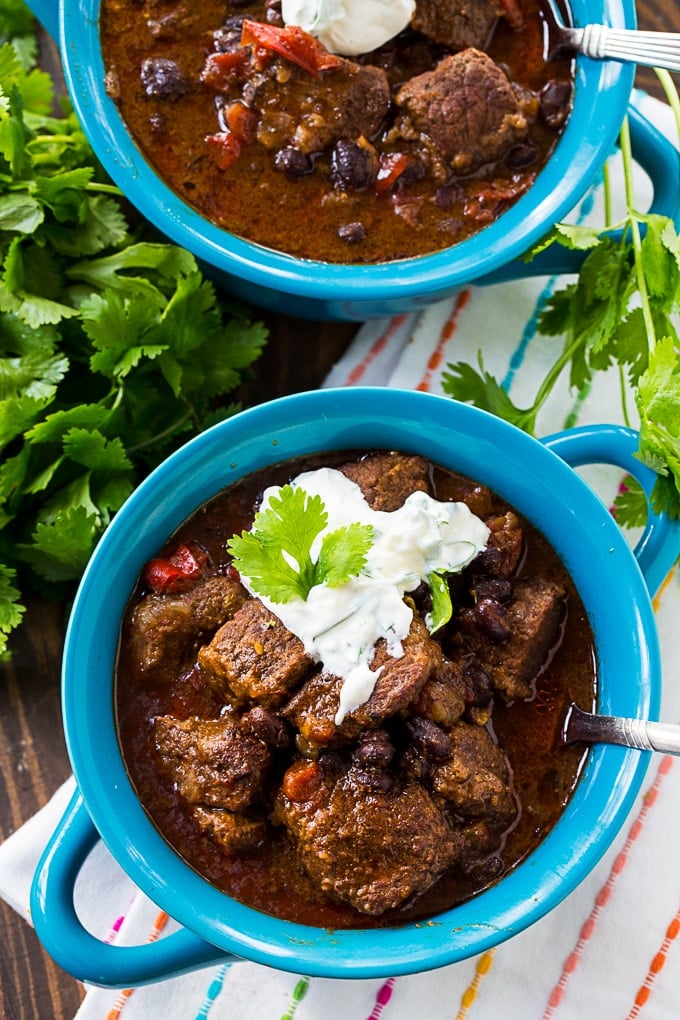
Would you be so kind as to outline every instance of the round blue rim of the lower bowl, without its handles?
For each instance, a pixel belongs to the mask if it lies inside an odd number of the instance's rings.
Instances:
[[[366,408],[370,408],[368,422]],[[346,427],[353,419],[354,430]],[[427,428],[416,429],[414,422]],[[515,471],[526,471],[531,465],[532,481],[541,494],[550,492],[555,503],[555,493],[560,493],[559,514],[554,516],[561,523],[570,519],[578,524],[585,514],[589,523],[580,526],[579,541],[600,543],[599,557],[605,557],[610,571],[620,575],[620,583],[612,585],[619,614],[616,642],[609,625],[609,645],[616,644],[616,649],[600,647],[605,626],[600,609],[593,607],[592,595],[584,602],[595,632],[600,682],[603,670],[609,677],[618,668],[616,661],[608,662],[612,655],[615,659],[621,655],[629,663],[631,653],[639,682],[622,690],[623,684],[606,679],[600,710],[644,717],[658,712],[661,667],[649,595],[626,540],[585,481],[540,442],[486,412],[432,394],[355,388],[297,394],[241,412],[171,455],[120,508],[85,572],[68,623],[62,671],[66,746],[86,808],[105,845],[138,886],[187,928],[237,956],[281,970],[303,968],[310,975],[352,978],[413,973],[490,949],[557,906],[600,859],[623,824],[646,772],[648,756],[622,748],[592,749],[565,812],[529,858],[496,885],[427,923],[325,931],[281,921],[220,892],[181,861],[142,808],[122,764],[112,707],[117,630],[112,641],[111,631],[116,628],[109,626],[107,634],[105,620],[112,606],[115,612],[116,602],[124,606],[134,586],[130,577],[134,580],[148,556],[160,547],[158,537],[164,532],[166,538],[188,516],[180,505],[168,520],[159,500],[160,484],[178,494],[180,504],[186,503],[192,476],[214,472],[218,463],[220,471],[231,472],[231,477],[225,482],[220,475],[218,483],[213,475],[204,489],[214,494],[249,473],[245,461],[254,435],[260,437],[260,452],[253,456],[258,462],[274,463],[287,459],[286,446],[302,443],[306,447],[300,452],[311,452],[319,423],[335,436],[333,444],[320,444],[324,449],[357,448],[356,443],[348,446],[347,442],[366,436],[370,427],[371,434],[375,429],[398,432],[407,448],[428,455],[423,450],[425,431],[437,430],[440,451],[444,436],[451,446],[451,429],[457,428],[459,437],[474,430],[482,453],[490,455],[495,450],[499,459],[498,451],[503,451]],[[433,459],[442,461],[441,456]],[[450,453],[443,462],[456,467],[460,457]],[[204,498],[204,492],[197,494],[193,506],[198,507]],[[524,513],[526,507],[518,509]],[[531,513],[527,516],[532,518]],[[537,522],[535,514],[533,520]],[[146,532],[141,542],[140,527]],[[134,558],[129,556],[130,532],[138,543]],[[127,562],[123,562],[125,550]],[[591,555],[582,553],[581,559],[587,560],[592,572]],[[573,566],[567,565],[573,573]],[[115,589],[123,588],[121,603]],[[88,680],[93,673],[97,684]]]

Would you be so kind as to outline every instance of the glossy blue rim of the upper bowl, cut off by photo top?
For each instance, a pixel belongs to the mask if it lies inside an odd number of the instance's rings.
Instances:
[[[472,238],[430,255],[375,264],[298,259],[228,234],[179,199],[130,142],[104,88],[101,0],[60,4],[64,76],[74,110],[111,178],[168,238],[217,270],[302,298],[423,303],[486,275],[539,241],[582,198],[613,150],[631,94],[634,66],[578,56],[574,109],[531,188]],[[576,23],[592,20],[587,0],[571,0]],[[633,0],[603,0],[603,23],[634,28]],[[587,130],[584,131],[584,128]],[[426,297],[427,296],[427,297]]]

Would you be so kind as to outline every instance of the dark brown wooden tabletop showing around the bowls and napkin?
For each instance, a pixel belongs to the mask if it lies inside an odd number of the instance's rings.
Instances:
[[[640,28],[680,32],[676,0],[639,0]],[[49,44],[47,44],[49,46]],[[662,95],[651,71],[638,84]],[[356,332],[352,323],[263,315],[270,340],[246,403],[314,389]],[[0,842],[25,822],[69,774],[60,716],[59,668],[64,607],[34,603],[0,666]],[[0,1017],[62,1020],[83,999],[80,983],[43,951],[33,929],[0,902]]]

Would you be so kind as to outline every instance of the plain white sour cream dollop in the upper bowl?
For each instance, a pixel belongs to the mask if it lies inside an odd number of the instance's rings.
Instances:
[[[370,53],[413,16],[415,0],[282,0],[285,24],[298,24],[331,53]]]

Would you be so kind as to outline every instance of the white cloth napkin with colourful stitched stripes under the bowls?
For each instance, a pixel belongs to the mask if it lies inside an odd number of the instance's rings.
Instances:
[[[670,110],[644,98],[645,112],[674,137]],[[642,174],[640,174],[642,178]],[[637,183],[638,205],[647,195]],[[574,219],[601,223],[599,195]],[[419,313],[362,326],[327,386],[371,384],[440,392],[448,362],[476,361],[504,378],[513,398],[532,396],[556,341],[537,338],[539,303],[557,279],[470,288]],[[618,378],[597,379],[581,399],[553,398],[539,432],[579,421],[618,421]],[[589,469],[611,500],[618,477]],[[680,722],[680,580],[656,600],[666,682],[662,718]],[[42,849],[72,780],[0,847],[0,896],[27,920]],[[206,968],[125,991],[88,988],[77,1020],[677,1020],[680,1015],[680,760],[652,757],[644,788],[615,845],[548,916],[494,951],[425,974],[389,980],[308,978],[250,963]],[[173,922],[137,890],[100,844],[79,878],[76,905],[100,937],[121,945],[162,937]]]

